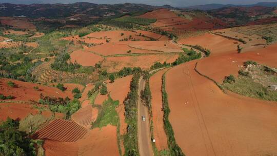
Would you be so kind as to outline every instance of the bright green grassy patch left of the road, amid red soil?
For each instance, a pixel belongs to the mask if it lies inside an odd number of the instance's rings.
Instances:
[[[92,127],[105,127],[108,124],[117,126],[119,122],[118,114],[115,108],[118,106],[119,101],[113,101],[109,96],[101,106],[98,106],[98,116],[95,122],[92,123]]]

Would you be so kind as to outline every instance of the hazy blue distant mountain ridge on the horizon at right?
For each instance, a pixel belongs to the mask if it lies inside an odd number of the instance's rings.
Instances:
[[[213,9],[220,9],[224,7],[254,7],[254,6],[263,6],[263,7],[277,7],[277,2],[260,2],[257,4],[251,5],[232,5],[232,4],[206,4],[206,5],[195,5],[184,7],[186,9],[199,9],[199,10],[213,10]]]

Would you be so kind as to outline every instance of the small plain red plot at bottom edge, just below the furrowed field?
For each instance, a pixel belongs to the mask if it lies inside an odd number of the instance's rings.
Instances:
[[[46,156],[76,156],[78,155],[78,145],[76,142],[59,142],[45,140],[43,144]]]

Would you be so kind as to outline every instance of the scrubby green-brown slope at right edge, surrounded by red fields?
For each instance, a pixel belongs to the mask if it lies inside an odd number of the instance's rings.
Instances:
[[[250,64],[251,61],[245,64]],[[238,78],[226,76],[223,87],[235,93],[268,101],[277,101],[277,91],[270,85],[277,84],[277,73],[269,67],[252,62],[239,71]]]

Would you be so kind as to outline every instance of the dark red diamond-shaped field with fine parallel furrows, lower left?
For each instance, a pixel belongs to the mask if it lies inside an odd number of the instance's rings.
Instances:
[[[86,133],[87,130],[75,122],[56,119],[46,127],[38,130],[33,135],[33,138],[75,142],[81,139]]]

